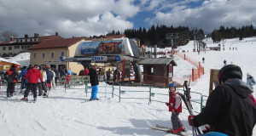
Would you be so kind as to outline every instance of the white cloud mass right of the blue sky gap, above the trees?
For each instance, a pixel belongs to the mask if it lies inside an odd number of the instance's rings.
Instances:
[[[213,31],[219,26],[256,25],[256,4],[253,0],[210,0],[201,7],[176,6],[170,12],[158,12],[150,20],[151,25],[198,26]]]

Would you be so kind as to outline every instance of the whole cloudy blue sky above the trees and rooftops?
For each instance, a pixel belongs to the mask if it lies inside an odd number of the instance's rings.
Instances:
[[[0,32],[90,37],[152,25],[256,26],[255,0],[2,0]]]

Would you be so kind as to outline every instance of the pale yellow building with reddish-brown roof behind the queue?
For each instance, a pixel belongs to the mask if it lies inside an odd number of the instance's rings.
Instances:
[[[47,40],[38,45],[28,48],[30,50],[31,65],[55,65],[60,71],[65,65],[67,70],[71,70],[79,75],[79,71],[84,69],[83,65],[77,62],[64,62],[61,56],[73,57],[79,42],[87,40],[86,37],[73,37],[65,39]]]

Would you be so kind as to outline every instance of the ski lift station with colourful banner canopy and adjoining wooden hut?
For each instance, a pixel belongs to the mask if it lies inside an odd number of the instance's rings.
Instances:
[[[157,53],[156,50],[154,53]],[[138,47],[135,40],[127,37],[82,41],[73,57],[60,57],[60,59],[61,61],[79,62],[88,69],[94,64],[114,65],[116,70],[123,72],[124,78],[129,77],[129,81],[132,65],[138,81],[144,79],[144,81],[150,81],[145,83],[154,85],[156,82],[154,76],[164,77],[164,86],[172,82],[170,80],[173,75],[172,67],[177,65],[172,58],[156,58],[156,54],[153,58],[151,53],[146,53],[143,47]],[[143,65],[143,77],[140,65]],[[124,78],[120,82],[125,82]]]

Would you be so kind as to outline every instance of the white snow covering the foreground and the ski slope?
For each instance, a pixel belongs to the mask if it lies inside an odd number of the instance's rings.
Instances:
[[[207,42],[208,47],[218,45],[218,43],[213,44],[210,39],[205,42]],[[227,39],[224,42],[225,51],[207,51],[206,54],[193,53],[193,41],[181,47],[180,50],[189,50],[186,55],[190,58],[198,61],[201,61],[202,57],[206,59],[206,63],[201,64],[205,68],[206,74],[197,82],[192,83],[191,91],[208,95],[210,69],[220,69],[224,65],[224,59],[228,64],[233,61],[241,66],[243,81],[246,82],[247,72],[256,76],[256,71],[253,71],[256,66],[253,59],[256,56],[255,44],[256,37],[246,38],[241,42],[237,41],[237,38]],[[230,50],[230,47],[237,47],[237,50]],[[24,58],[27,55],[24,55]],[[21,65],[28,65],[22,64],[22,62],[28,61],[29,63],[29,57],[26,61],[20,60],[20,57],[12,58],[12,60],[19,62]],[[191,74],[193,65],[179,57],[175,57],[175,60],[177,61],[177,67],[174,67],[174,77]],[[57,86],[55,91],[50,92],[48,99],[38,97],[35,104],[16,102],[16,99],[23,97],[21,94],[16,94],[13,99],[5,99],[5,94],[1,94],[1,135],[172,135],[150,128],[155,124],[172,127],[171,113],[164,103],[152,101],[148,105],[148,99],[121,99],[121,102],[119,102],[119,97],[113,96],[112,98],[111,94],[107,94],[108,99],[106,99],[104,98],[105,84],[101,82],[100,86],[102,87],[99,88],[99,93],[102,94],[98,94],[98,98],[102,99],[93,102],[84,102],[86,99],[90,99],[90,94],[87,96],[84,94],[84,87],[77,87],[81,89],[67,89],[65,92],[63,87]],[[109,87],[106,90],[107,93],[111,92]],[[148,88],[121,87],[121,90],[148,91]],[[5,90],[2,89],[2,91]],[[168,89],[152,88],[152,92],[167,94]],[[117,90],[114,93],[119,94]],[[256,93],[254,92],[253,95],[256,96]],[[149,94],[148,92],[126,92],[121,96],[125,98],[148,98]],[[198,94],[191,94],[191,97],[193,100],[200,100]],[[32,99],[32,94],[29,95],[29,99]],[[152,99],[167,102],[168,96],[155,95]],[[193,104],[193,106],[195,111],[200,111],[200,105]],[[183,124],[189,129],[187,135],[192,135],[191,127],[189,127],[187,121],[188,116],[189,113],[186,110],[183,110],[183,113],[179,115]],[[256,135],[255,129],[253,135]]]

